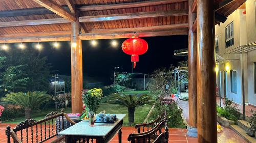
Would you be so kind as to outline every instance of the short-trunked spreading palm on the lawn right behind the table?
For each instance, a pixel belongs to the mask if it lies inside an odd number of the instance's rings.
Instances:
[[[128,108],[129,123],[134,123],[135,107],[144,104],[152,103],[154,100],[150,95],[116,95],[115,98],[109,102],[113,104],[119,104]]]

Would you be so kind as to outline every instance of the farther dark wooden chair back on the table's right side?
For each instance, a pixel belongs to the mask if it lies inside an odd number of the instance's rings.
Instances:
[[[163,112],[156,120],[150,122],[150,123],[144,123],[144,124],[137,124],[135,125],[135,129],[138,130],[138,133],[140,133],[140,130],[142,129],[142,132],[145,131],[145,128],[146,128],[146,131],[152,129],[153,127],[155,127],[159,121],[161,121],[162,119],[165,118],[165,114],[166,114],[166,111]]]

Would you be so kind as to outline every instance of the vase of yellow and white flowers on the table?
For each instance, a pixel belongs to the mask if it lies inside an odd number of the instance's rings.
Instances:
[[[88,111],[89,126],[94,126],[94,114],[99,107],[100,98],[102,97],[101,89],[91,89],[82,91],[82,101]]]

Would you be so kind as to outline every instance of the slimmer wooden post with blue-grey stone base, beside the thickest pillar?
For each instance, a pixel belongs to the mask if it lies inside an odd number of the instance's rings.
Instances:
[[[197,34],[193,33],[193,22],[196,13],[192,12],[194,0],[188,0],[188,104],[189,104],[189,136],[197,136]]]

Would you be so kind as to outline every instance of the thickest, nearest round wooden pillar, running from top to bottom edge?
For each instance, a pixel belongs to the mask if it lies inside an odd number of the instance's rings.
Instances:
[[[198,142],[217,143],[214,1],[197,0]]]

